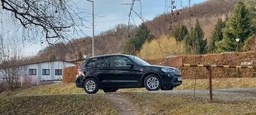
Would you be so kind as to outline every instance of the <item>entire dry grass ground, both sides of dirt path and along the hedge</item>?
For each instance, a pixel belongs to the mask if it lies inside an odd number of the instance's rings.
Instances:
[[[207,89],[208,80],[197,80]],[[213,87],[256,87],[256,78],[214,79]],[[183,80],[176,89],[193,89],[194,80]],[[139,114],[256,114],[256,101],[215,101],[172,93],[144,92],[145,88],[119,89],[113,95],[128,98]],[[102,90],[85,95],[74,83],[31,86],[0,93],[0,114],[117,114]],[[99,106],[100,105],[100,106]]]

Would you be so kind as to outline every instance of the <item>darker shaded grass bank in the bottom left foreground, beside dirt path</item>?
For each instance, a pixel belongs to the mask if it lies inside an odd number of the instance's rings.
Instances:
[[[37,95],[1,97],[0,113],[117,114],[117,111],[100,95]]]

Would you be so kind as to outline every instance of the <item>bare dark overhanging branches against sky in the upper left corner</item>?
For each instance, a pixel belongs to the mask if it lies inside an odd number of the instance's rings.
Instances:
[[[86,12],[79,11],[77,4],[73,0],[1,0],[2,9],[28,31],[41,30],[48,44],[50,39],[66,38],[66,32],[87,28]]]

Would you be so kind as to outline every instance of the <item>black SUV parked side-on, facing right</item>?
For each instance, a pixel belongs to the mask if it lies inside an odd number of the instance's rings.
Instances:
[[[137,56],[115,54],[86,59],[78,68],[76,86],[93,94],[121,88],[143,87],[149,91],[172,90],[182,83],[181,71],[169,66],[150,65]]]

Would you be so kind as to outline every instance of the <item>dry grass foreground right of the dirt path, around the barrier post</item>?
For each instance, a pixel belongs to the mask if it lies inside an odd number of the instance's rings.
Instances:
[[[120,95],[130,98],[140,114],[255,114],[256,101],[209,103],[200,98],[186,95],[123,92]]]

